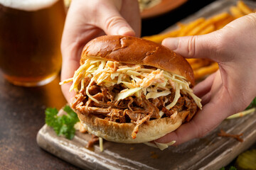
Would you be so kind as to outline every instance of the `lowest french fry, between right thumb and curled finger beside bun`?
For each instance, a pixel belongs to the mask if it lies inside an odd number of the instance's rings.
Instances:
[[[194,70],[194,76],[195,79],[201,79],[203,77],[206,77],[208,74],[212,74],[213,72],[216,72],[218,70],[218,63],[213,62],[213,64],[210,64],[207,67],[202,67],[200,69]]]

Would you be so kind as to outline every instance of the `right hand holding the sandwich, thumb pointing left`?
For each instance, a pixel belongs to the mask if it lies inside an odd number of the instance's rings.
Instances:
[[[156,142],[175,145],[203,137],[225,118],[243,111],[256,96],[256,13],[207,35],[167,38],[162,44],[187,58],[208,58],[219,70],[193,89],[203,110]]]

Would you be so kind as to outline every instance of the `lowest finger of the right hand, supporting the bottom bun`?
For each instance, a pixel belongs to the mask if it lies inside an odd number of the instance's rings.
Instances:
[[[223,95],[223,90],[220,91],[218,96],[223,97],[211,98],[210,103],[203,106],[203,110],[198,111],[189,123],[181,125],[176,131],[159,138],[156,142],[168,143],[175,140],[175,145],[179,145],[193,138],[203,137],[216,128],[234,111],[230,98],[226,94]]]

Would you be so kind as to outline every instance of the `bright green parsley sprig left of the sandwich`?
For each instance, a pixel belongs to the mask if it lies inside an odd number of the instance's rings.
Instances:
[[[66,115],[58,116],[56,108],[46,108],[46,124],[53,128],[58,136],[63,135],[69,140],[75,136],[75,123],[78,123],[78,115],[70,108],[65,106],[63,111]]]

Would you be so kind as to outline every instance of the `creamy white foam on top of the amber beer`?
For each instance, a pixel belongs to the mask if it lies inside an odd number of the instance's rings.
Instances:
[[[0,0],[0,4],[23,11],[37,11],[52,6],[56,1],[58,0]]]

